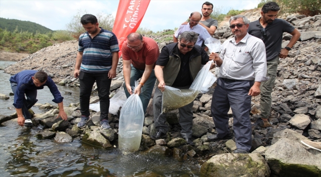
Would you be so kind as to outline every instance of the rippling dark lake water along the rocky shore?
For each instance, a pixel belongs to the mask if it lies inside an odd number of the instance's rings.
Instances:
[[[0,61],[0,65],[12,64]],[[0,70],[0,93],[9,95],[10,75]],[[49,89],[38,91],[38,103],[53,103]],[[60,87],[64,104],[79,101],[79,89]],[[64,94],[71,91],[72,95]],[[13,96],[0,100],[0,114],[15,112]],[[11,109],[8,109],[11,108]],[[38,108],[32,108],[40,113]],[[123,155],[117,147],[103,149],[74,140],[56,143],[53,139],[40,140],[37,133],[43,127],[20,127],[16,120],[0,125],[0,177],[202,177],[195,159],[184,162],[173,157],[136,152]]]

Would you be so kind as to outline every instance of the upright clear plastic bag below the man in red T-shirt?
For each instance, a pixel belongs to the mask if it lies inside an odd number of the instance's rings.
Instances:
[[[135,82],[137,87],[138,82]],[[130,95],[120,110],[118,146],[123,154],[135,152],[140,147],[144,124],[144,111],[137,94]]]

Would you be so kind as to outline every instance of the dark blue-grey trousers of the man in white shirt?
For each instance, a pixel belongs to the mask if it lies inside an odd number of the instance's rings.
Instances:
[[[251,96],[247,95],[254,81],[225,82],[217,80],[213,93],[211,112],[218,132],[217,137],[223,138],[229,133],[228,112],[233,112],[233,130],[237,148],[247,151],[252,147],[251,138]]]

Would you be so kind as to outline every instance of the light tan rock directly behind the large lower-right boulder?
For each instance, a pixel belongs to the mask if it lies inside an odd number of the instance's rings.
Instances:
[[[273,135],[271,144],[277,143],[281,138],[287,138],[292,141],[301,142],[301,140],[309,140],[307,137],[300,135],[298,132],[291,129],[284,129],[279,132],[276,132]]]

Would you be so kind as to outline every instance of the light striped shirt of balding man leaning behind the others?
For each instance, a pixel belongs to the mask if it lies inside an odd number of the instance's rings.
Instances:
[[[193,31],[199,34],[199,38],[196,41],[196,44],[201,46],[202,42],[204,42],[207,38],[211,37],[208,33],[208,31],[202,27],[201,25],[197,24],[196,26],[190,28],[190,24],[187,25],[181,25],[177,31],[175,32],[175,37],[178,38],[178,36],[184,32],[184,31]]]

